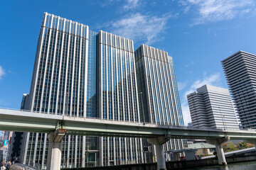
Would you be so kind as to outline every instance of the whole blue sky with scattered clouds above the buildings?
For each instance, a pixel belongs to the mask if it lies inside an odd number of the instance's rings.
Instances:
[[[43,13],[78,21],[169,52],[185,123],[186,95],[204,84],[228,88],[220,61],[256,54],[254,0],[1,1],[0,107],[19,108],[31,85]]]

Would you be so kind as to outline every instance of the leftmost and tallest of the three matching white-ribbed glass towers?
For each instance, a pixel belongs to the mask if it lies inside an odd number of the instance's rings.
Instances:
[[[88,26],[45,13],[31,91],[26,99],[29,104],[25,109],[75,117],[95,116],[95,48],[96,33],[89,31]],[[87,77],[87,72],[92,75]],[[90,87],[88,91],[87,87]],[[95,137],[92,139],[88,141],[78,135],[64,137],[62,166],[85,166],[85,145],[97,147]],[[47,152],[47,134],[24,134],[21,148],[23,164],[39,165],[45,169]]]

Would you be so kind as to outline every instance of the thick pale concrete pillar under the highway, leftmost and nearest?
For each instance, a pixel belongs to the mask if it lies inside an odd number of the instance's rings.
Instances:
[[[60,169],[62,140],[65,136],[65,130],[55,130],[48,134],[48,156],[47,156],[47,170]]]

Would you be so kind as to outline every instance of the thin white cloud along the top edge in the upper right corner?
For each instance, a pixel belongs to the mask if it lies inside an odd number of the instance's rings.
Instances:
[[[181,1],[185,8],[184,13],[191,10],[191,6],[198,9],[198,18],[195,19],[196,24],[225,21],[235,18],[238,15],[249,13],[254,9],[254,0],[188,0],[186,3]]]

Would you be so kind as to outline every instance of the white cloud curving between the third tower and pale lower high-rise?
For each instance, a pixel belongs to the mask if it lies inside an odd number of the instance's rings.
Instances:
[[[191,122],[191,115],[189,112],[189,107],[188,107],[188,100],[187,100],[187,95],[193,93],[198,89],[199,87],[208,84],[208,85],[214,85],[214,86],[220,86],[220,73],[215,73],[211,74],[208,76],[206,72],[203,72],[203,79],[197,79],[196,81],[191,84],[190,88],[188,91],[184,93],[183,98],[181,99],[181,108],[182,108],[182,113],[183,113],[183,119],[184,119],[184,124],[187,125],[188,123]]]

